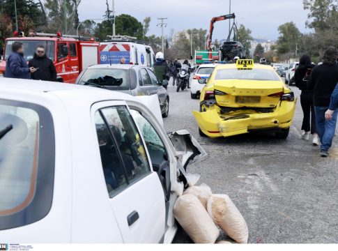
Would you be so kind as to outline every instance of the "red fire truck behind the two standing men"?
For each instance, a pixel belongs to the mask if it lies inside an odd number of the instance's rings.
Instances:
[[[86,67],[98,64],[100,60],[99,45],[93,38],[49,33],[30,33],[28,37],[20,36],[15,32],[15,37],[7,38],[0,62],[0,76],[6,69],[6,59],[11,52],[11,45],[18,41],[24,44],[24,58],[26,61],[33,59],[36,47],[43,45],[49,59],[55,64],[59,82],[73,84],[79,73]]]

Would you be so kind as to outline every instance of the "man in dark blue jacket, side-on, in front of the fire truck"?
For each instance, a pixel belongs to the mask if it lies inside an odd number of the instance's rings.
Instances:
[[[12,53],[6,59],[6,70],[4,77],[17,79],[30,79],[36,68],[29,67],[24,59],[24,45],[20,42],[12,44]]]

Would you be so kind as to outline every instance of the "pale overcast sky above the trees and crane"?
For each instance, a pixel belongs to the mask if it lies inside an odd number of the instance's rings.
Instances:
[[[110,8],[112,0],[108,0]],[[79,6],[79,20],[98,19],[105,14],[105,0],[82,0]],[[158,17],[167,17],[164,34],[171,29],[202,28],[209,29],[212,17],[229,13],[229,0],[115,0],[116,15],[129,14],[143,22],[144,17],[151,17],[151,26],[147,35],[161,35],[157,26]],[[301,32],[308,32],[305,27],[307,11],[302,8],[302,0],[232,0],[231,13],[236,14],[236,21],[252,30],[254,38],[277,40],[277,28],[285,22],[295,22]],[[100,22],[100,21],[98,21]],[[231,21],[232,24],[232,21]],[[229,21],[217,22],[213,38],[224,39],[229,33]]]

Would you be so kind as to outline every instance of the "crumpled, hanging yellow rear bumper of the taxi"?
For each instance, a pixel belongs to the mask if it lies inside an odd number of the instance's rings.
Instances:
[[[245,113],[229,116],[221,114],[220,107],[206,108],[206,112],[194,111],[194,117],[201,131],[208,137],[230,137],[250,130],[290,128],[295,112],[294,102],[282,102],[274,112]]]

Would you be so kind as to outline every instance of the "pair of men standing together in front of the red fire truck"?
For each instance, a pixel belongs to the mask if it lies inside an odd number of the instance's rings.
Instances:
[[[29,60],[28,64],[24,58],[22,43],[14,42],[11,49],[12,52],[6,61],[4,77],[56,81],[54,62],[46,56],[43,45],[36,47],[33,59]]]

